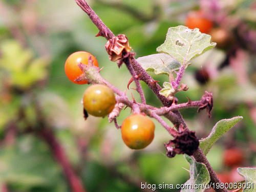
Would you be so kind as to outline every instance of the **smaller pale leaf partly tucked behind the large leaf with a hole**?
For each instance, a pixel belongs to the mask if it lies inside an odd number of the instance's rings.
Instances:
[[[137,61],[146,71],[155,74],[169,75],[180,68],[180,63],[165,53],[158,53],[137,58]]]

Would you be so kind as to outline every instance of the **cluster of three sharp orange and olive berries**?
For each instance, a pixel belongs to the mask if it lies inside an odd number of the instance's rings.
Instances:
[[[78,64],[88,65],[90,56],[93,60],[93,65],[98,67],[98,61],[88,52],[75,52],[67,58],[65,72],[72,82],[77,84],[88,83],[87,80],[77,80],[83,74]],[[116,98],[113,90],[104,84],[93,84],[83,94],[84,110],[96,117],[109,115],[115,108],[115,104]],[[135,150],[140,150],[149,145],[154,139],[154,132],[154,122],[139,113],[130,115],[121,125],[123,142]]]

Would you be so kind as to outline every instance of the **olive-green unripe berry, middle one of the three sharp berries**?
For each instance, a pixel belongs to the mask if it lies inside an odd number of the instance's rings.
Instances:
[[[104,117],[112,112],[116,104],[115,94],[103,84],[94,84],[83,94],[83,107],[91,115]]]

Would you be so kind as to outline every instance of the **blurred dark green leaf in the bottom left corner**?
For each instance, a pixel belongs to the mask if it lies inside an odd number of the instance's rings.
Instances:
[[[44,143],[19,137],[14,146],[0,150],[0,180],[26,186],[51,186],[60,173]]]

